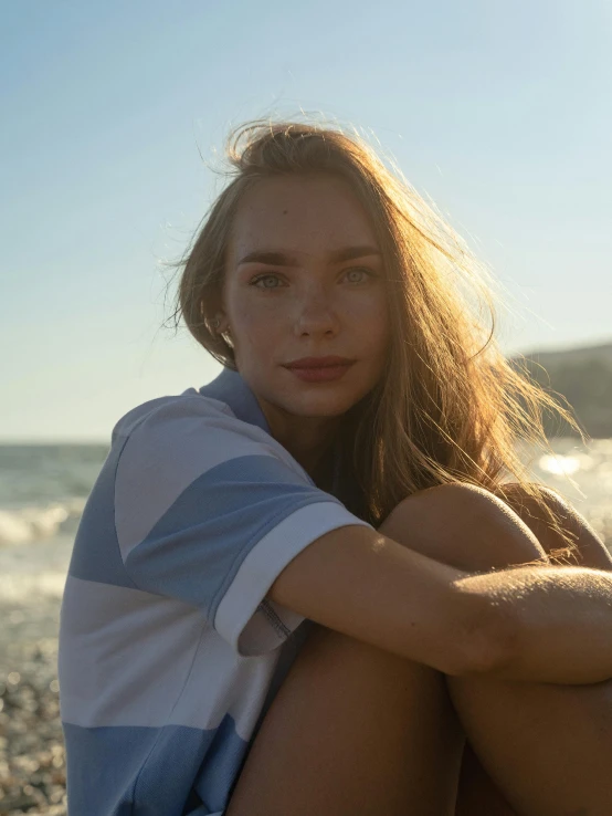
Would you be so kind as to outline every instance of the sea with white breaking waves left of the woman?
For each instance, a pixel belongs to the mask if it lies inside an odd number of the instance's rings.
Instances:
[[[74,535],[107,453],[105,444],[0,446],[0,680],[13,662],[7,641],[56,638]]]

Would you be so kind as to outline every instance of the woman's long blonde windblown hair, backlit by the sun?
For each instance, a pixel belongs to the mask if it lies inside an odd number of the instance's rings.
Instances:
[[[339,128],[255,121],[230,134],[226,156],[232,180],[173,264],[182,269],[176,325],[182,317],[198,343],[235,370],[233,349],[214,332],[212,316],[240,200],[271,176],[339,176],[365,207],[379,242],[392,336],[379,384],[345,417],[342,461],[360,496],[351,509],[378,525],[402,499],[425,488],[464,482],[504,498],[504,484],[514,481],[537,500],[571,551],[571,534],[560,529],[540,485],[529,481],[516,443],[551,452],[546,410],[582,432],[526,369],[500,353],[488,273],[466,243],[363,139]]]

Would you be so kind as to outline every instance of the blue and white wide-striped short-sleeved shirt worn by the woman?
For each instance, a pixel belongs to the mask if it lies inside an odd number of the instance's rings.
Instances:
[[[354,524],[236,372],[118,421],[62,603],[70,816],[223,813],[310,626],[270,587]]]

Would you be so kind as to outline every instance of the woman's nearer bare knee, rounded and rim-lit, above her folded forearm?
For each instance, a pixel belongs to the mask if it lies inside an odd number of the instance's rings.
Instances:
[[[519,515],[500,498],[472,484],[443,484],[413,493],[379,530],[422,555],[466,572],[548,563]]]

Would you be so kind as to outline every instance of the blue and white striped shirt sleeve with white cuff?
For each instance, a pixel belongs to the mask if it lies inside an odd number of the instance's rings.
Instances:
[[[308,544],[354,524],[371,527],[210,398],[157,407],[118,459],[115,525],[129,577],[200,607],[241,656],[277,648],[304,620],[266,598],[270,587]]]

